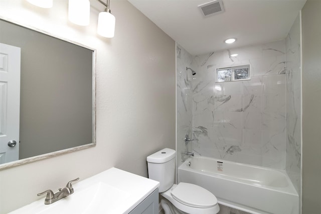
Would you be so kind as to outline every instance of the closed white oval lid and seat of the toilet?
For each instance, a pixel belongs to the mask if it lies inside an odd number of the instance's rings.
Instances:
[[[217,204],[217,198],[210,191],[192,183],[179,183],[171,194],[178,202],[196,208],[210,208]]]

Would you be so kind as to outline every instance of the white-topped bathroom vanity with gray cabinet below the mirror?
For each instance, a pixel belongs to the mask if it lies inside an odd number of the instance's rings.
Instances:
[[[76,177],[77,175],[75,175]],[[73,184],[74,193],[49,205],[45,198],[11,214],[28,213],[158,213],[159,182],[117,168]]]

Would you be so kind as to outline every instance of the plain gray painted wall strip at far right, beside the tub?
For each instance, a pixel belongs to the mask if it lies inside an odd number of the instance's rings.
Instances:
[[[321,211],[321,1],[302,9],[302,213]]]

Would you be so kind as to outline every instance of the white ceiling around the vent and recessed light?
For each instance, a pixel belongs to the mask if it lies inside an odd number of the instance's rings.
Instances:
[[[223,0],[224,13],[204,17],[208,0],[129,0],[192,55],[284,39],[306,0]],[[224,40],[237,38],[234,44]]]

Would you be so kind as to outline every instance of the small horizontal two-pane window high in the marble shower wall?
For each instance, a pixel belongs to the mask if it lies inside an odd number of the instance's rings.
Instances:
[[[217,82],[230,82],[250,79],[250,65],[216,69]]]

